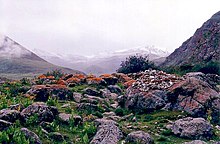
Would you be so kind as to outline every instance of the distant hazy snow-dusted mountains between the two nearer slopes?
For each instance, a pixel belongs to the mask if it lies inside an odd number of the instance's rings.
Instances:
[[[79,55],[60,55],[51,52],[43,52],[37,49],[33,51],[53,64],[97,75],[115,72],[120,67],[121,61],[124,61],[126,57],[131,55],[148,55],[149,59],[152,61],[155,60],[157,64],[163,62],[164,57],[169,55],[168,52],[162,51],[154,46],[141,46],[120,51],[103,52],[90,57]]]

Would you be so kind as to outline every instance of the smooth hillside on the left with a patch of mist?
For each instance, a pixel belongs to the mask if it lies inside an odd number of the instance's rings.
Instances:
[[[60,69],[63,72],[80,73],[80,71],[53,65],[9,37],[0,36],[1,76],[35,75],[56,69]]]

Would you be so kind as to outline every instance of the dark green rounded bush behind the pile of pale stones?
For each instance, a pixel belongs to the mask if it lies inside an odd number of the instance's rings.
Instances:
[[[149,61],[148,56],[134,55],[122,61],[121,67],[117,70],[119,73],[136,73],[150,68],[155,68],[154,64]]]

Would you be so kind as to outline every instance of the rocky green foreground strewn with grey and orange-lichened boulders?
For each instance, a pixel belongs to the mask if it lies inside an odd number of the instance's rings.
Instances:
[[[218,75],[51,73],[0,83],[0,143],[220,142]]]

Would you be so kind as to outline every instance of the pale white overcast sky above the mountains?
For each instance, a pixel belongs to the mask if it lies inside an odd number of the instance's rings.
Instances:
[[[64,54],[143,45],[172,52],[219,10],[220,0],[0,0],[0,33]]]

